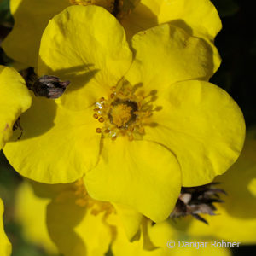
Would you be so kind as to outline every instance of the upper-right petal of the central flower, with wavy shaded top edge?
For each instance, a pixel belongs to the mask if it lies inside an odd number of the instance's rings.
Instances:
[[[209,79],[212,75],[212,49],[200,38],[168,24],[155,26],[132,38],[136,52],[129,72],[131,84],[143,83],[145,90],[189,79]]]

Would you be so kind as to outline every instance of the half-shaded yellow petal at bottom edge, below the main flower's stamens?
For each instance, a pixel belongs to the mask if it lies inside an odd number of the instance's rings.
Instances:
[[[103,256],[111,241],[111,229],[103,222],[104,212],[92,214],[77,199],[72,192],[64,192],[49,204],[49,235],[65,256]]]

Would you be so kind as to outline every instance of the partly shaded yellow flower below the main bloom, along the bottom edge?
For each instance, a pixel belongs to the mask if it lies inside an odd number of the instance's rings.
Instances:
[[[41,243],[45,242],[46,234],[45,237],[39,234],[47,225],[50,238],[55,241],[55,245],[64,256],[103,256],[109,250],[112,250],[114,256],[164,256],[179,253],[230,255],[228,249],[210,246],[200,250],[168,248],[167,241],[176,240],[181,234],[168,221],[153,226],[151,221],[138,218],[139,215],[129,208],[95,201],[86,193],[81,181],[68,184],[66,188],[60,188],[59,185],[32,183],[36,191],[38,186],[40,186],[40,196],[48,196],[51,199],[38,197],[38,192],[36,195],[33,194],[30,185],[23,183],[18,190],[17,202],[19,202],[16,206],[16,215],[22,213],[20,224],[26,226],[26,230],[34,230],[27,232],[27,235],[32,241],[36,237],[37,243],[40,240]],[[49,201],[47,210],[44,209],[45,201]],[[31,202],[42,212],[32,211],[34,206]],[[32,221],[29,222],[29,218]],[[131,233],[132,229],[133,233]],[[186,241],[195,241],[195,239],[196,236],[190,236]]]

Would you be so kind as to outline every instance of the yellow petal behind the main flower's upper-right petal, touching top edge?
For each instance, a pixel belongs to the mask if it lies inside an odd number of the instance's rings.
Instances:
[[[163,23],[180,27],[191,36],[203,38],[211,46],[214,72],[220,65],[221,59],[213,40],[222,25],[217,10],[209,0],[142,0],[120,22],[128,38]]]

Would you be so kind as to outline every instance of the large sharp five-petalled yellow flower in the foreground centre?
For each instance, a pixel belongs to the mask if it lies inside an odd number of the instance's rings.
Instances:
[[[18,142],[4,148],[21,175],[43,183],[84,177],[89,194],[168,217],[181,185],[209,183],[241,152],[244,120],[230,96],[201,80],[211,49],[168,24],[132,38],[113,15],[73,6],[46,28],[38,73],[71,84],[34,97]],[[182,175],[181,175],[182,173]]]

